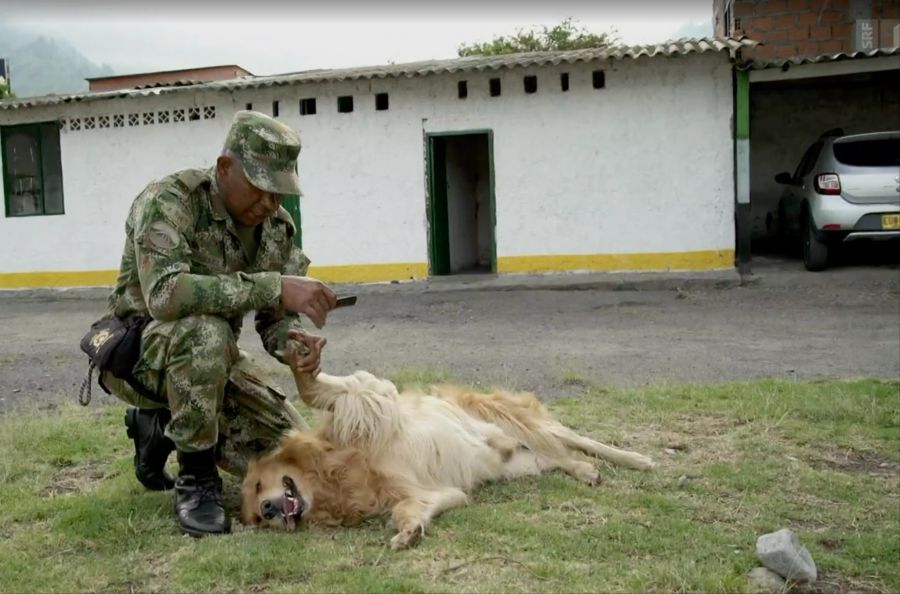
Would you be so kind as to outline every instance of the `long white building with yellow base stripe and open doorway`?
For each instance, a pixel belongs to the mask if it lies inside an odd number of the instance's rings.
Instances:
[[[733,59],[683,41],[0,102],[0,287],[111,284],[132,199],[247,106],[303,141],[331,282],[734,265]]]

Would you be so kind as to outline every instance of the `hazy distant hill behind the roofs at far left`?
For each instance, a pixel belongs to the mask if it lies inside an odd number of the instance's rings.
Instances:
[[[65,41],[4,23],[0,23],[0,58],[9,60],[12,92],[17,97],[87,91],[85,78],[115,74]]]

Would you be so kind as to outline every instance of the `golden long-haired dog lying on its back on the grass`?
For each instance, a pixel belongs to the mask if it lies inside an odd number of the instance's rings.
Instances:
[[[289,348],[289,362],[297,357]],[[292,365],[292,368],[294,366]],[[307,521],[353,526],[390,513],[393,548],[414,546],[431,520],[465,505],[485,481],[562,470],[600,482],[595,458],[634,469],[653,462],[579,435],[531,394],[453,386],[398,393],[365,371],[294,373],[303,401],[325,411],[252,462],[241,489],[246,525],[294,530]]]

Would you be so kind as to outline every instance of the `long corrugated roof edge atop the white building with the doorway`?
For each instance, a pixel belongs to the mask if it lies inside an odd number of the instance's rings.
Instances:
[[[359,68],[338,68],[307,70],[273,76],[241,77],[220,80],[188,87],[161,86],[145,89],[129,89],[116,91],[100,91],[96,93],[77,93],[71,95],[47,95],[43,97],[25,97],[0,101],[0,109],[20,109],[44,105],[59,105],[71,102],[102,101],[128,97],[148,97],[168,93],[239,89],[282,86],[303,83],[340,82],[348,80],[369,80],[376,78],[414,78],[431,74],[451,74],[458,72],[482,72],[490,70],[526,68],[532,66],[548,66],[557,64],[573,64],[576,62],[592,62],[597,60],[621,60],[640,57],[672,57],[706,52],[727,51],[734,58],[741,48],[754,47],[758,42],[747,37],[678,39],[655,45],[611,46],[596,49],[581,49],[558,52],[530,52],[524,54],[506,54],[502,56],[471,56],[448,60],[426,60],[404,64],[388,64],[383,66],[364,66]]]

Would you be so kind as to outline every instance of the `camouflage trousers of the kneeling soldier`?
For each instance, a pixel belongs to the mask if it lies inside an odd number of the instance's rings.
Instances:
[[[168,402],[172,420],[166,435],[179,451],[216,447],[219,466],[237,476],[286,431],[308,428],[284,393],[238,349],[229,323],[217,316],[150,322],[141,336],[134,376]],[[134,406],[164,406],[109,372],[103,382]]]

